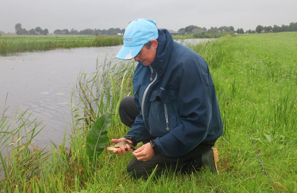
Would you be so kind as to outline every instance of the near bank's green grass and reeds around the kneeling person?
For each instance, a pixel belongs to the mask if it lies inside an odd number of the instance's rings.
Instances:
[[[53,144],[50,157],[29,145],[39,131],[37,120],[25,118],[29,112],[16,115],[12,128],[2,114],[0,144],[9,156],[0,154],[0,192],[296,192],[296,42],[296,32],[283,32],[228,36],[192,47],[209,64],[224,122],[216,143],[218,175],[202,170],[133,180],[126,172],[131,153],[104,151],[89,163],[85,136],[100,114],[112,113],[110,138],[129,129],[117,109],[132,93],[134,63],[105,60],[94,73],[78,77],[71,97],[72,133],[61,145]]]

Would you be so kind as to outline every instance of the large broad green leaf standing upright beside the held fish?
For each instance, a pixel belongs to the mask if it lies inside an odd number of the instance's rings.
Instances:
[[[105,112],[93,123],[86,139],[86,148],[89,160],[97,158],[104,148],[108,145],[108,136],[106,129],[111,125],[111,114]]]

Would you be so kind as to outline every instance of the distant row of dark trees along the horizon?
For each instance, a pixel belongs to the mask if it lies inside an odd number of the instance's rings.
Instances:
[[[210,29],[206,29],[205,27],[198,27],[194,25],[189,25],[185,28],[178,29],[180,35],[185,34],[193,34],[196,38],[206,37],[207,34],[218,34],[218,33],[237,33],[237,34],[252,34],[252,33],[269,33],[269,32],[296,32],[297,31],[297,22],[291,22],[289,25],[277,26],[261,26],[258,25],[255,30],[247,30],[244,32],[242,28],[234,29],[233,26],[221,26],[221,27],[211,27]],[[32,28],[30,30],[26,30],[22,28],[20,23],[15,24],[15,32],[16,34],[43,34],[46,35],[49,33],[48,29],[42,29],[40,27]],[[82,35],[117,35],[124,34],[125,29],[120,28],[109,28],[109,29],[84,29],[84,30],[76,30],[71,29],[56,29],[53,34],[82,34]]]

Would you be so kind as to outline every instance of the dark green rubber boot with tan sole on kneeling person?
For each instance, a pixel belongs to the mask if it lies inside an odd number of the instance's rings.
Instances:
[[[210,168],[212,173],[219,173],[217,162],[219,161],[219,154],[217,148],[211,148],[201,155],[202,167]]]

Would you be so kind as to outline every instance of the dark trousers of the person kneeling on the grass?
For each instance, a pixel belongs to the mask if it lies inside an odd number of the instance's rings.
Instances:
[[[123,98],[119,107],[121,121],[125,125],[131,127],[138,114],[139,110],[134,102],[133,96]],[[148,161],[138,161],[136,158],[134,158],[128,164],[127,172],[131,173],[135,179],[141,177],[147,179],[156,165],[158,165],[155,172],[156,176],[161,175],[166,170],[172,170],[181,173],[199,170],[202,165],[201,155],[210,150],[211,147],[214,146],[215,142],[216,141],[202,142],[187,155],[181,157],[165,157],[161,155],[155,155]]]

